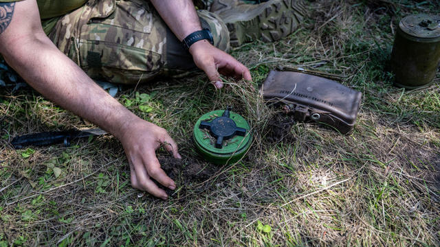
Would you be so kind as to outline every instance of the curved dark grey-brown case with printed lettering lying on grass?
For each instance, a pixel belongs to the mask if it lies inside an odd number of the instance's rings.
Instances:
[[[347,134],[362,93],[333,80],[292,71],[270,71],[262,86],[268,104],[281,105],[297,121],[316,121]]]

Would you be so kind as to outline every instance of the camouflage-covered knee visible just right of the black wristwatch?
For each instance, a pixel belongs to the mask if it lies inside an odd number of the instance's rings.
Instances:
[[[225,23],[217,14],[208,12],[208,10],[199,10],[197,14],[199,15],[201,26],[211,31],[212,38],[214,38],[214,46],[222,51],[228,52],[230,48],[230,37],[228,27],[226,27]]]

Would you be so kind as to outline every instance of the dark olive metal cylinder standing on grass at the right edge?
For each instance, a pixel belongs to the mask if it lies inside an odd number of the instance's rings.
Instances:
[[[399,23],[391,54],[395,86],[420,89],[432,84],[440,62],[440,16],[415,14]]]

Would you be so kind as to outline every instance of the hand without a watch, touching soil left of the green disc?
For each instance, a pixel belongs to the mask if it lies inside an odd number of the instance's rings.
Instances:
[[[166,200],[166,192],[159,189],[151,178],[168,189],[175,189],[176,185],[160,168],[155,150],[164,145],[174,158],[181,158],[177,145],[164,128],[142,119],[128,123],[120,141],[130,164],[131,186]]]

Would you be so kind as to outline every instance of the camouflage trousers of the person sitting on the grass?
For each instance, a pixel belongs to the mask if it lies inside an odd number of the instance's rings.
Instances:
[[[207,10],[197,14],[214,46],[228,51],[229,32]],[[116,84],[196,69],[192,57],[146,0],[89,0],[63,16],[49,35],[91,78]]]

